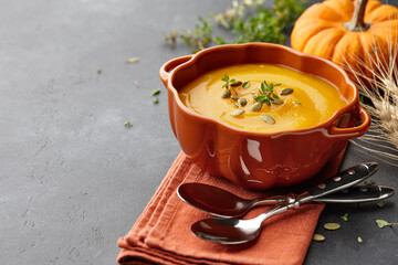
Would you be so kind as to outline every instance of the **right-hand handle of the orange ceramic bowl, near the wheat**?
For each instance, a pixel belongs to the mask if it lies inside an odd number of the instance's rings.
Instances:
[[[362,135],[365,135],[365,132],[369,129],[370,126],[370,115],[359,106],[359,118],[362,119],[362,124],[357,127],[350,127],[350,128],[337,128],[333,126],[328,132],[332,137],[338,137],[338,138],[345,138],[350,139],[355,137],[359,137]]]

